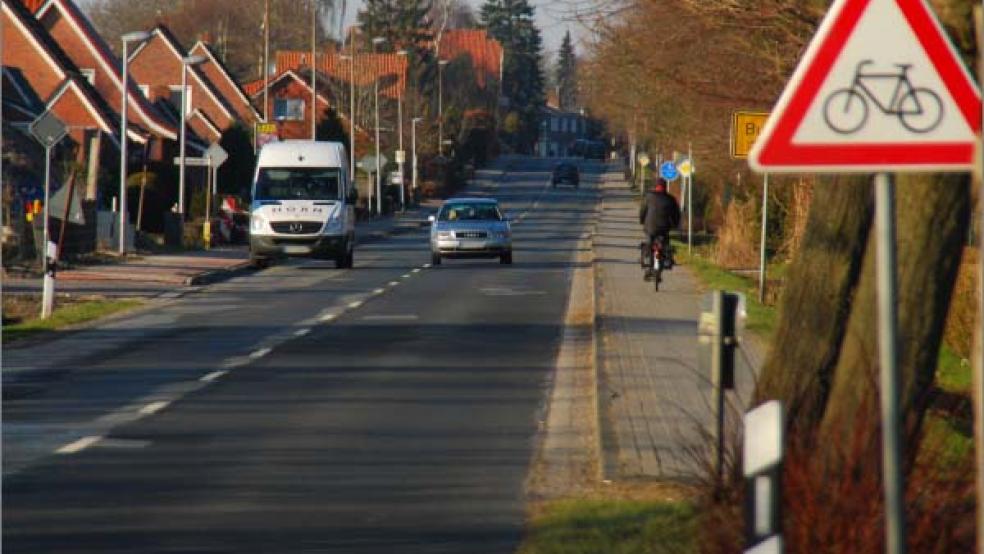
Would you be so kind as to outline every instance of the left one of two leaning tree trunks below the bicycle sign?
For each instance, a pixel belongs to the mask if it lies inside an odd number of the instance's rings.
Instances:
[[[847,327],[874,197],[867,178],[817,183],[799,253],[782,295],[757,402],[781,399],[790,430],[812,431],[823,416]]]

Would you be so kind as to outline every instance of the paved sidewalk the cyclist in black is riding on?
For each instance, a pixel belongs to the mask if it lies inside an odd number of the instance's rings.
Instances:
[[[710,461],[710,375],[698,363],[698,283],[686,267],[664,273],[659,291],[639,267],[638,204],[620,176],[601,184],[594,236],[599,410],[606,478],[688,481]],[[739,352],[732,417],[754,384],[755,352]]]

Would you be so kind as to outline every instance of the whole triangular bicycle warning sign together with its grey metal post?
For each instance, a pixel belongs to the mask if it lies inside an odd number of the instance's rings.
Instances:
[[[891,85],[888,97],[879,84]],[[967,172],[981,96],[927,0],[835,0],[749,155],[759,172],[874,173],[886,552],[905,552],[895,189]]]

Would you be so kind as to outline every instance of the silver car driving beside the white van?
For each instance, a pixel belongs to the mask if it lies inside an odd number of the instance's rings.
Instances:
[[[442,258],[499,258],[512,263],[512,230],[499,203],[489,198],[451,198],[431,221],[431,263]]]

